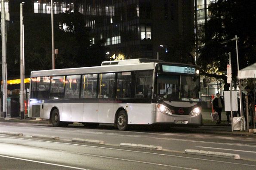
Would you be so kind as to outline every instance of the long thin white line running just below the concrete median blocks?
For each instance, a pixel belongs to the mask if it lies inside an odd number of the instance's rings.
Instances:
[[[1,136],[1,137],[6,137],[6,136]],[[6,137],[6,138],[21,139],[21,140],[34,140],[34,139],[23,139],[23,138],[18,138],[18,137]],[[66,145],[84,146],[84,147],[101,148],[101,149],[109,149],[109,150],[120,150],[120,151],[126,151],[126,152],[144,153],[144,154],[149,154],[149,155],[161,155],[161,156],[169,156],[169,157],[176,157],[176,158],[186,158],[186,159],[194,159],[194,160],[220,162],[223,164],[237,164],[237,165],[245,165],[245,166],[249,166],[249,167],[256,167],[256,165],[251,165],[251,164],[241,164],[241,163],[234,163],[234,162],[227,162],[227,161],[216,161],[216,160],[203,159],[203,158],[191,158],[191,157],[187,157],[187,156],[167,155],[167,154],[161,154],[161,153],[133,151],[133,150],[126,150],[126,149],[116,149],[116,148],[108,148],[108,147],[101,147],[101,146],[81,145],[81,144],[74,144],[74,143],[52,142],[52,141],[45,141],[45,140],[34,140],[34,141],[47,142],[47,143],[60,143],[60,144],[66,144]],[[65,152],[68,152],[68,151],[65,151]],[[74,153],[74,152],[72,152],[72,153]],[[77,153],[77,154],[83,155],[83,153]]]

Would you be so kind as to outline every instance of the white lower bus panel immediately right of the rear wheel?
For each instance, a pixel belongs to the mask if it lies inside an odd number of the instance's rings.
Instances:
[[[83,103],[63,103],[61,121],[83,122]]]

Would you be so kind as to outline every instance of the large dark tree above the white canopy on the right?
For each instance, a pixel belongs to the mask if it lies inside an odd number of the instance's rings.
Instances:
[[[237,35],[239,69],[256,60],[256,1],[218,0],[210,3],[210,20],[204,25],[199,64],[203,75],[221,78],[226,84],[228,52],[231,52],[232,77],[237,76],[235,42]],[[224,42],[224,43],[223,43]]]

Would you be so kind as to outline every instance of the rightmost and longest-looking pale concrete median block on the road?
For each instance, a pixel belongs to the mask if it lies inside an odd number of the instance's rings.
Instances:
[[[219,157],[219,158],[240,159],[240,155],[239,154],[224,153],[224,152],[212,152],[212,151],[186,149],[185,153],[187,153],[187,154],[194,154],[194,155],[213,156],[213,157]]]

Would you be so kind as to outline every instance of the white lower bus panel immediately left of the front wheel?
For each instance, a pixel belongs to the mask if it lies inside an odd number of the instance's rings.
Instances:
[[[114,103],[99,103],[99,122],[114,123]]]

